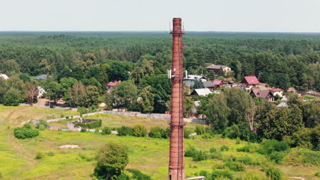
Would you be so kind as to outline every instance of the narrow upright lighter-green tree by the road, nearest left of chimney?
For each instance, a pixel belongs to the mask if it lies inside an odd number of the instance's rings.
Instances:
[[[152,88],[147,86],[142,89],[142,92],[139,94],[139,97],[141,97],[139,105],[141,106],[141,111],[144,113],[151,113],[153,111],[154,95],[151,91]]]

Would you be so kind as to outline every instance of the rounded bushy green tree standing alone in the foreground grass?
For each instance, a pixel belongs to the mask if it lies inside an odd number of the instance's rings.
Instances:
[[[129,163],[128,153],[124,147],[109,143],[98,150],[94,175],[98,179],[116,180]]]

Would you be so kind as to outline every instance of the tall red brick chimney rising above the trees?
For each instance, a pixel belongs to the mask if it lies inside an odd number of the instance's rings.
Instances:
[[[181,18],[173,18],[169,180],[185,180],[183,126],[183,44]]]

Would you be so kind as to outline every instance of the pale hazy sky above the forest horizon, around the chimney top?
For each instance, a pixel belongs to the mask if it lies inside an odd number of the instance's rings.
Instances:
[[[0,31],[320,33],[320,0],[0,0]]]

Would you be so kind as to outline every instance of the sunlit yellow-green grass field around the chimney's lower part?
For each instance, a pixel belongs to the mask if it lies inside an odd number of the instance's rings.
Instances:
[[[23,112],[23,113],[21,113]],[[108,142],[116,142],[123,145],[129,153],[129,170],[140,170],[153,180],[166,179],[168,174],[169,140],[154,138],[137,138],[131,136],[119,137],[116,135],[103,136],[92,132],[62,132],[44,130],[40,136],[33,139],[18,140],[14,138],[12,131],[14,126],[27,119],[47,119],[54,115],[70,116],[77,112],[68,110],[30,108],[30,107],[5,107],[0,106],[0,173],[3,179],[92,179],[95,161],[94,156],[99,147]],[[103,120],[103,125],[121,126],[142,124],[150,128],[152,125],[165,127],[168,121],[156,119],[144,119],[137,117],[124,117],[117,115],[96,115],[90,118]],[[56,122],[62,125],[64,122]],[[194,124],[189,124],[193,128]],[[221,138],[218,135],[211,139],[201,136],[185,140],[186,148],[194,146],[198,149],[209,151],[215,147],[218,151],[223,145],[230,147],[228,151],[222,151],[222,160],[205,160],[194,162],[191,157],[185,158],[186,175],[194,176],[201,170],[211,172],[213,167],[224,164],[223,160],[230,157],[248,156],[262,165],[245,165],[246,171],[255,170],[261,175],[263,164],[271,164],[270,160],[258,153],[237,152],[237,148],[243,147],[247,142],[241,141],[237,145],[236,140]],[[61,145],[79,145],[79,149],[59,149]],[[41,160],[35,160],[37,153],[43,153]],[[290,158],[290,157],[287,157]],[[286,177],[299,176],[306,179],[317,179],[315,173],[319,166],[287,166],[274,165],[281,168]],[[245,171],[245,172],[246,172]],[[242,177],[245,172],[232,172],[235,177]]]

